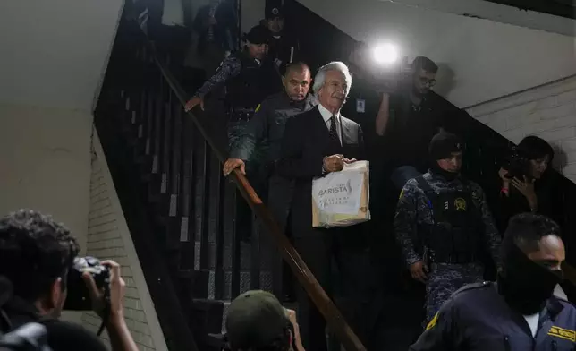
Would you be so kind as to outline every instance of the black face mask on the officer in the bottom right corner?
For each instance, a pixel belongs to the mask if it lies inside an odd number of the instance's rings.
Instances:
[[[512,244],[504,261],[504,272],[498,274],[498,292],[513,310],[524,315],[536,314],[562,280],[562,270],[548,270]]]

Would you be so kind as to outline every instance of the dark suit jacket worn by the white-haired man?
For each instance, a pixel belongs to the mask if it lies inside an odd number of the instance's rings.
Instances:
[[[292,196],[292,235],[313,235],[312,179],[322,176],[322,162],[326,156],[343,154],[345,158],[365,159],[364,141],[360,125],[340,116],[342,146],[330,143],[326,123],[315,107],[294,116],[286,124],[276,163],[276,172],[294,180]]]

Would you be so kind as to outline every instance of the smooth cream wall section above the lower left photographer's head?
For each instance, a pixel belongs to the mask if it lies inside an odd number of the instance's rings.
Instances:
[[[27,208],[64,222],[86,253],[88,113],[0,104],[0,215]],[[80,314],[68,313],[79,321]]]

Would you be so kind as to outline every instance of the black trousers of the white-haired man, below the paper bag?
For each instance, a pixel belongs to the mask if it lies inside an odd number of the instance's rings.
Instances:
[[[364,245],[353,243],[354,228],[309,229],[293,238],[294,246],[312,274],[333,297],[344,319],[360,337],[366,330],[362,314],[369,304],[369,257]],[[334,294],[335,293],[335,294]],[[298,323],[307,350],[325,351],[326,321],[299,286]]]

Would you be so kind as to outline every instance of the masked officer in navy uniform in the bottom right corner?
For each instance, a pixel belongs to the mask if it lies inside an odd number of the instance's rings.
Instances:
[[[497,282],[462,287],[410,349],[573,350],[576,308],[553,295],[564,257],[553,220],[530,213],[513,217]]]

